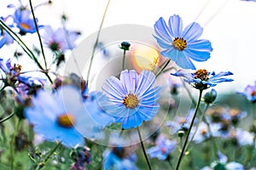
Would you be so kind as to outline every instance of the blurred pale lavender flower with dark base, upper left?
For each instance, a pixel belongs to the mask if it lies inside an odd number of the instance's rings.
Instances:
[[[53,52],[61,51],[64,53],[67,49],[76,47],[75,41],[79,37],[76,31],[67,31],[64,28],[53,30],[51,26],[44,26],[42,38],[47,47]]]

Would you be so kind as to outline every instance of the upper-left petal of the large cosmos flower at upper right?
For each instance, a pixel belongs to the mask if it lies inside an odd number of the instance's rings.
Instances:
[[[163,39],[165,42],[172,42],[174,38],[168,27],[166,26],[166,21],[160,17],[154,24],[154,31],[160,39]]]

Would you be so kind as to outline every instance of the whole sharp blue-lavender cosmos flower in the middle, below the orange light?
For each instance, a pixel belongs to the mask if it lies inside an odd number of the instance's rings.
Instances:
[[[108,102],[101,102],[102,108],[114,116],[116,122],[121,122],[124,129],[150,121],[160,107],[156,103],[160,88],[154,88],[154,81],[150,71],[142,71],[138,76],[134,70],[125,70],[120,79],[108,78],[102,86]]]

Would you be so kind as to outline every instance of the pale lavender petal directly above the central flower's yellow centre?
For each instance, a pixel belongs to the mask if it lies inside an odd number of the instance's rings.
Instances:
[[[137,72],[134,70],[122,71],[120,82],[123,84],[123,87],[125,87],[126,94],[134,94],[134,91],[137,88]]]

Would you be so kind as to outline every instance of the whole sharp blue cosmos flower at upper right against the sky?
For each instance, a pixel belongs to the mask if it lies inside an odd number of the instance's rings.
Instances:
[[[154,24],[154,31],[161,48],[161,54],[172,59],[183,69],[195,70],[195,61],[206,61],[212,52],[211,42],[208,40],[198,40],[201,37],[203,28],[196,22],[189,24],[183,30],[183,20],[178,15],[169,18],[168,26],[166,21],[160,17]]]

